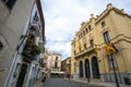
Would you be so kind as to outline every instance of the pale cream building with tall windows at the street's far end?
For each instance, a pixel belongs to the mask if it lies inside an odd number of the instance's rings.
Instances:
[[[61,71],[61,54],[58,52],[50,52],[45,49],[43,74],[50,77],[51,73],[59,73]]]

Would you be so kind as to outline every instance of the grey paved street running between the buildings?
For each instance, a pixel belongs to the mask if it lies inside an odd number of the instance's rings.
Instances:
[[[88,85],[87,83],[74,82],[63,78],[48,78],[44,87],[100,87],[96,85]]]

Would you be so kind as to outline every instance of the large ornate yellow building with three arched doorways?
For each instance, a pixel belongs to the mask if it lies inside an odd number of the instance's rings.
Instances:
[[[107,4],[96,17],[83,22],[71,42],[71,74],[73,78],[93,78],[119,83],[131,79],[131,15]],[[111,60],[110,60],[111,59]],[[114,66],[112,66],[114,60]]]

